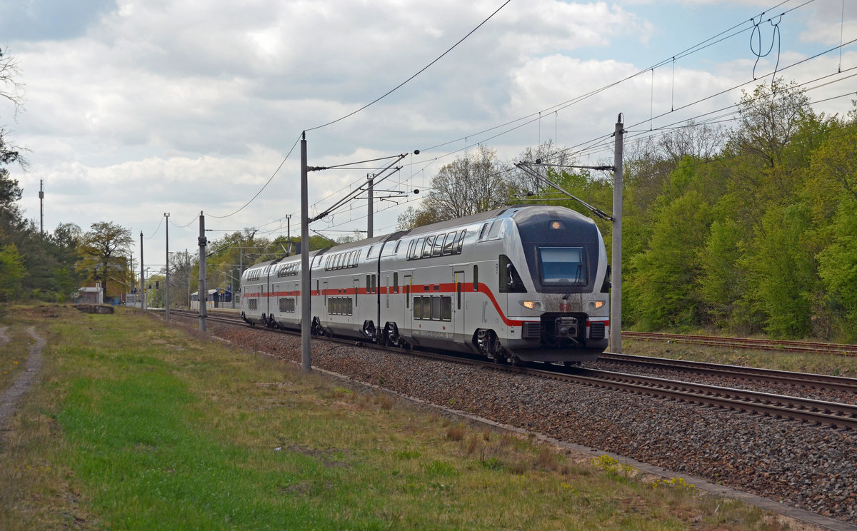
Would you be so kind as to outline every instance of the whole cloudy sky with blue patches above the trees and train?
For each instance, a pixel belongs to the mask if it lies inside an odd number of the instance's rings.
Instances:
[[[198,249],[201,212],[209,240],[299,236],[303,131],[310,166],[351,166],[309,174],[310,217],[393,159],[351,163],[406,155],[375,191],[378,236],[479,145],[613,164],[620,114],[626,150],[690,119],[729,127],[775,71],[844,115],[854,39],[854,0],[0,0],[24,98],[0,98],[0,127],[28,150],[9,167],[25,217],[43,182],[45,231],[120,224],[152,273],[165,213],[171,251]],[[310,229],[353,234],[366,213],[351,200]]]

